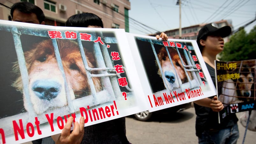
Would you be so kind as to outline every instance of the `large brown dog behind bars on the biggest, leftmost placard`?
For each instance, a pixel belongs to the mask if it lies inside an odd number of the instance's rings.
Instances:
[[[71,99],[90,95],[91,88],[88,84],[87,74],[77,42],[59,39],[58,47]],[[90,68],[96,67],[93,54],[85,48],[84,52],[88,66]],[[29,75],[28,90],[34,111],[37,114],[41,114],[66,106],[68,103],[64,78],[58,68],[52,40],[43,40],[34,44],[30,50],[24,52],[24,56]],[[12,86],[16,90],[23,92],[18,62],[13,66],[13,72],[17,74],[17,78]],[[91,72],[91,74],[95,73],[95,71]],[[102,90],[99,77],[93,77],[92,81],[97,92]],[[27,110],[24,94],[23,100],[24,107]]]

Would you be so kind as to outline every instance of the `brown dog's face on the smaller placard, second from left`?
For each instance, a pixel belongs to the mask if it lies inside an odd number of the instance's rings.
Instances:
[[[168,57],[168,53],[165,47],[162,47],[160,49],[159,53],[157,54],[157,57],[158,57],[158,60],[160,61],[160,64],[163,70],[163,74],[164,74],[163,77],[165,77],[166,79],[167,85],[165,85],[165,88],[169,90],[173,90],[173,88],[179,88],[179,82],[186,83],[188,82],[188,79],[187,79],[184,67],[182,65],[182,62],[179,58],[179,54],[177,50],[174,48],[168,47],[168,51],[171,56],[174,67],[172,66],[172,63]],[[182,60],[184,64],[187,65],[186,64],[187,62],[184,56],[182,56]],[[176,76],[176,73],[178,74],[178,76]],[[191,73],[188,72],[188,74],[191,78],[192,77]],[[160,69],[158,70],[158,75],[161,76]]]

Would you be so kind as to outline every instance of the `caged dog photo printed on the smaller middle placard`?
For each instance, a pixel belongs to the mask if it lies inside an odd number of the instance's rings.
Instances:
[[[196,64],[200,64],[191,59],[195,52],[190,42],[172,42],[177,46],[165,47],[161,40],[139,37],[135,40],[153,93],[162,90],[183,92],[199,87],[202,81],[207,84],[205,79],[198,78]]]

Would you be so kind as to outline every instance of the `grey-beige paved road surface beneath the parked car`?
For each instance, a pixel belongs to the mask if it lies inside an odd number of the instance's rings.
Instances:
[[[239,113],[237,113],[239,117]],[[127,138],[132,144],[196,144],[194,108],[159,116],[150,122],[126,118]],[[240,137],[238,144],[242,144],[245,128],[238,121]],[[244,144],[255,144],[256,132],[247,131]]]

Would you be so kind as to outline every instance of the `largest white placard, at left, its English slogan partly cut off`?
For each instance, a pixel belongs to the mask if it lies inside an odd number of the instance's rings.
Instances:
[[[61,133],[69,116],[89,126],[147,110],[123,30],[39,26],[0,21],[0,143]]]

